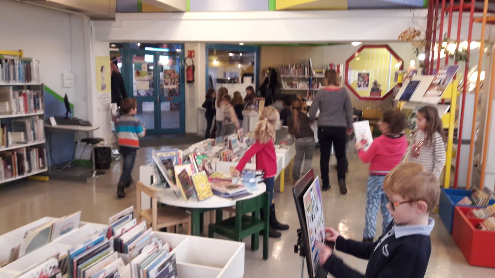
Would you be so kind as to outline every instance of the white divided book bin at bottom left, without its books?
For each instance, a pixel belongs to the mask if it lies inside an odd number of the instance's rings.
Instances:
[[[22,242],[26,231],[57,218],[45,217],[11,232],[0,235],[0,261],[8,259],[10,248]],[[71,245],[106,227],[103,224],[81,222],[79,228],[62,235],[49,244],[20,257],[0,268],[0,278],[12,278],[26,268],[46,261],[50,256],[66,254]],[[184,234],[154,232],[163,242],[170,242],[177,260],[177,272],[181,278],[242,278],[244,275],[243,242],[213,239]],[[5,248],[4,248],[5,247]],[[129,267],[127,254],[119,254]],[[129,272],[127,272],[129,273]],[[121,276],[121,278],[130,278]]]

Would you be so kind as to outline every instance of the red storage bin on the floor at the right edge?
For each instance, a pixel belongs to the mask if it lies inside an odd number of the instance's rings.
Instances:
[[[495,268],[495,232],[475,228],[483,219],[467,218],[473,209],[455,207],[452,237],[470,265]]]

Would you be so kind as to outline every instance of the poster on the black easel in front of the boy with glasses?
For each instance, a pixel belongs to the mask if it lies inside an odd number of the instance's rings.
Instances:
[[[319,244],[325,244],[325,218],[323,217],[323,202],[321,201],[320,181],[318,177],[309,185],[302,197],[304,212],[306,215],[306,227],[308,230],[309,244],[311,248],[311,266],[313,277],[319,265]]]

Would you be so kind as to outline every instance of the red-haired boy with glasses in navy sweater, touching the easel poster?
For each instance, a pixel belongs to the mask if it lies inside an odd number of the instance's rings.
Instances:
[[[396,166],[383,183],[394,218],[379,240],[360,242],[345,239],[327,228],[327,240],[341,252],[368,260],[366,273],[351,269],[322,245],[320,265],[335,278],[422,278],[431,254],[430,232],[435,221],[429,215],[440,197],[440,182],[419,163]]]

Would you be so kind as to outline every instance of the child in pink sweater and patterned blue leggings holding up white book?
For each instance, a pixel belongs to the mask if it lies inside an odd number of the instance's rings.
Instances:
[[[386,110],[378,123],[382,135],[371,143],[368,150],[364,151],[362,143],[356,141],[359,158],[364,163],[371,162],[366,185],[363,241],[373,242],[378,207],[382,210],[382,231],[385,231],[392,222],[392,216],[387,210],[387,196],[382,187],[385,176],[402,161],[407,151],[407,139],[402,133],[405,126],[404,114],[396,109]]]

